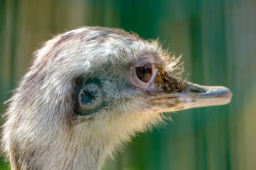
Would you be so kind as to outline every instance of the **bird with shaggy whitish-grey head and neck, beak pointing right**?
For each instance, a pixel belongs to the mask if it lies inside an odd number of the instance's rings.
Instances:
[[[232,92],[182,79],[181,57],[156,39],[80,27],[42,44],[5,103],[11,169],[101,169],[170,112],[228,104]]]

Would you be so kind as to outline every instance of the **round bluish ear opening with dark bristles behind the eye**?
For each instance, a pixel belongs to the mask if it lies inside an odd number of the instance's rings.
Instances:
[[[101,102],[102,92],[98,85],[91,83],[80,89],[78,103],[84,114],[87,114],[92,109],[98,107]]]

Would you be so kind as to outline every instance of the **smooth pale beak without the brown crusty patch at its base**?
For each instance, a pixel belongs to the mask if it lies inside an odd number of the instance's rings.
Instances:
[[[156,92],[152,99],[156,112],[178,111],[196,107],[225,105],[230,102],[232,92],[222,86],[202,86],[186,82],[185,88],[179,92]]]

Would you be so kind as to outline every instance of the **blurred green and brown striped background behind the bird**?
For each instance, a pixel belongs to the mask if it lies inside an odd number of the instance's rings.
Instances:
[[[0,1],[0,113],[32,53],[80,26],[122,28],[165,41],[188,80],[233,91],[229,105],[172,114],[133,139],[110,169],[256,169],[256,1]],[[8,169],[1,158],[0,169]]]

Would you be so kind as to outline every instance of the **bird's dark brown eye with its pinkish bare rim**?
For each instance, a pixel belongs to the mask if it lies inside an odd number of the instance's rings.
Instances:
[[[153,79],[154,60],[144,58],[131,66],[132,82],[138,87],[146,87]]]

